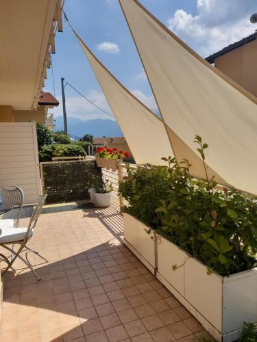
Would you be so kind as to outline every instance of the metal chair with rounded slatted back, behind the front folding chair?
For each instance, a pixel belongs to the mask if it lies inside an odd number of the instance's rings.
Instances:
[[[16,219],[2,219],[0,220],[0,228],[4,227],[18,227],[21,213],[23,211],[24,194],[20,187],[7,186],[0,188],[0,196],[3,203],[10,203],[14,208],[19,208],[19,213]]]

